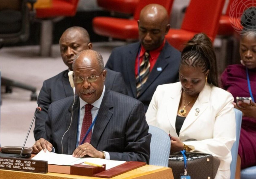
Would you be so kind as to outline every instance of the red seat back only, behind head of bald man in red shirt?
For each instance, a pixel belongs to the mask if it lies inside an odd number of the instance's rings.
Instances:
[[[139,4],[135,10],[135,13],[133,15],[133,18],[135,20],[139,19],[141,10],[147,6],[148,4],[160,4],[166,8],[168,14],[170,15],[171,9],[172,9],[172,4],[174,0],[140,0]]]

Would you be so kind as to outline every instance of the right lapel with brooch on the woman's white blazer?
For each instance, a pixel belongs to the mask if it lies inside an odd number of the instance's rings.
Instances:
[[[182,125],[180,133],[186,130],[186,128],[188,128],[195,120],[197,120],[198,117],[200,117],[200,115],[202,115],[204,112],[207,112],[206,109],[209,105],[208,102],[209,102],[210,94],[211,94],[211,87],[207,83],[207,85],[205,85],[203,90],[199,93],[199,96],[195,101],[195,104],[191,108],[188,116],[186,117],[186,120]],[[198,115],[196,115],[196,111],[195,111],[195,109],[197,108],[199,109]]]

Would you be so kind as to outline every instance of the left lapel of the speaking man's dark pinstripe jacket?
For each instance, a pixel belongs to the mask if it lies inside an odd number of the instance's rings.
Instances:
[[[70,126],[70,129],[66,133],[66,136],[68,137],[68,152],[67,152],[67,154],[72,154],[74,152],[74,149],[76,148],[78,112],[79,112],[79,104],[80,104],[79,96],[75,97],[75,103],[74,103],[73,109],[72,109],[72,104],[68,108],[69,113],[65,116],[66,130],[67,130],[70,125],[70,119],[71,119],[71,115],[72,115],[72,124]],[[71,110],[72,110],[73,114],[71,113]]]

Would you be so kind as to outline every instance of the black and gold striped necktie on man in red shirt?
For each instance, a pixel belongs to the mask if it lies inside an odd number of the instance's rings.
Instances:
[[[146,83],[149,77],[149,72],[150,72],[149,69],[150,69],[149,52],[147,51],[143,56],[143,60],[139,68],[139,73],[136,77],[137,96],[139,96],[140,91],[143,87],[143,84]]]

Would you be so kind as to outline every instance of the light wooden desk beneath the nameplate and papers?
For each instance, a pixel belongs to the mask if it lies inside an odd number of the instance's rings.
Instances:
[[[0,170],[0,179],[103,179],[61,173],[31,173],[23,171]],[[111,179],[174,179],[172,169],[168,167],[146,165]]]

